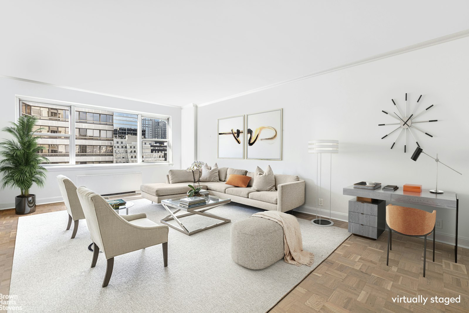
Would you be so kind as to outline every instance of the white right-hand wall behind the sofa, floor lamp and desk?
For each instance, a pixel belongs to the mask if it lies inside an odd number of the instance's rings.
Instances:
[[[403,139],[390,149],[397,135],[380,139],[393,130],[394,119],[381,110],[393,112],[391,99],[403,106],[407,92],[412,106],[420,94],[416,112],[434,104],[418,120],[438,119],[421,123],[420,128],[433,138],[414,131],[426,153],[435,155],[459,175],[440,166],[439,189],[455,191],[460,198],[460,231],[463,245],[469,244],[469,38],[457,39],[363,64],[322,76],[281,85],[239,98],[198,108],[198,160],[220,167],[244,168],[271,165],[274,173],[298,175],[306,181],[305,207],[315,207],[316,155],[307,153],[311,139],[337,139],[340,152],[333,155],[332,211],[333,216],[347,220],[349,196],[342,188],[359,181],[383,184],[422,184],[435,188],[435,161],[421,155],[415,162],[410,156],[416,144],[408,143],[403,153]],[[283,160],[217,160],[217,119],[283,107]],[[401,110],[403,108],[401,107]],[[324,208],[329,207],[329,155],[323,156],[325,188]],[[401,187],[402,188],[402,187]],[[304,209],[304,208],[303,208]],[[431,208],[427,208],[430,210]],[[439,209],[437,218],[443,229],[437,239],[454,240],[454,210]]]

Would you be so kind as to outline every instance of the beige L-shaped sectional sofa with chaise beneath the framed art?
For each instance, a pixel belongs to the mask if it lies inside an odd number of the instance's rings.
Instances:
[[[233,202],[265,210],[287,212],[304,204],[304,180],[298,176],[275,174],[276,191],[255,191],[251,188],[253,179],[245,188],[227,185],[225,182],[230,172],[254,177],[254,173],[247,170],[219,168],[219,182],[200,182],[200,185],[210,195],[231,198]],[[166,183],[143,184],[140,190],[143,198],[160,203],[164,199],[184,197],[190,190],[189,184],[193,184],[191,172],[172,169],[166,176]]]

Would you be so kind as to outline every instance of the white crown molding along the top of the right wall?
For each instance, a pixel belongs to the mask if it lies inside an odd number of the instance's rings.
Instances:
[[[270,85],[267,85],[267,86],[264,86],[264,87],[259,87],[259,88],[256,88],[256,89],[249,90],[247,92],[237,93],[237,94],[234,94],[232,96],[216,99],[216,100],[213,100],[213,101],[204,102],[204,103],[201,103],[201,104],[197,105],[197,107],[208,106],[210,104],[225,101],[225,100],[228,100],[228,99],[233,99],[233,98],[238,98],[238,97],[241,97],[241,96],[245,96],[245,95],[248,95],[250,93],[260,92],[260,91],[267,90],[267,89],[274,88],[274,87],[278,87],[278,86],[281,86],[281,85],[284,85],[284,84],[290,84],[290,83],[294,83],[294,82],[297,82],[297,81],[300,81],[300,80],[303,80],[303,79],[307,79],[307,78],[311,78],[311,77],[315,77],[315,76],[320,76],[320,75],[336,72],[336,71],[339,71],[339,70],[342,70],[342,69],[348,69],[348,68],[351,68],[351,67],[354,67],[354,66],[357,66],[357,65],[362,65],[362,64],[365,64],[365,63],[373,62],[373,61],[386,59],[386,58],[392,57],[394,55],[399,55],[399,54],[402,54],[402,53],[408,53],[408,52],[415,51],[415,50],[418,50],[418,49],[426,48],[426,47],[429,47],[429,46],[439,45],[439,44],[442,44],[442,43],[445,43],[445,42],[448,42],[448,41],[452,41],[452,40],[459,39],[459,38],[465,38],[465,37],[468,37],[468,36],[469,36],[469,30],[459,31],[459,32],[456,32],[454,34],[450,34],[450,35],[446,35],[446,36],[443,36],[443,37],[427,40],[427,41],[424,41],[424,42],[421,42],[421,43],[418,43],[418,44],[415,44],[415,45],[412,45],[412,46],[406,46],[406,47],[396,49],[396,50],[392,50],[392,51],[389,51],[389,52],[376,54],[376,55],[373,55],[373,56],[365,58],[365,59],[361,59],[361,60],[358,60],[358,61],[342,64],[342,65],[339,65],[339,66],[336,66],[336,67],[333,67],[333,68],[330,68],[330,69],[325,69],[325,70],[315,72],[315,73],[311,73],[311,74],[308,74],[308,75],[287,79],[287,80],[284,80],[284,81],[279,82],[279,83],[270,84]]]

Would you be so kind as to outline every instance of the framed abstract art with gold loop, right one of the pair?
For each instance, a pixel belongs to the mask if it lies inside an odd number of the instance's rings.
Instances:
[[[282,160],[282,109],[246,115],[247,159]]]

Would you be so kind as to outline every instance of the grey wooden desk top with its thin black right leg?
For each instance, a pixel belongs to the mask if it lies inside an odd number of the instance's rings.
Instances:
[[[378,200],[387,200],[394,202],[402,202],[408,204],[416,204],[421,206],[442,207],[446,209],[456,210],[456,234],[454,244],[454,262],[458,262],[458,214],[459,199],[458,195],[452,191],[444,193],[431,193],[429,190],[423,189],[422,192],[404,191],[399,188],[396,191],[382,190],[381,187],[375,190],[354,188],[352,186],[345,187],[343,194],[347,196],[372,198]]]

